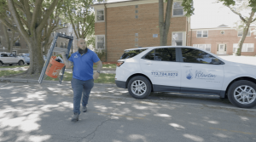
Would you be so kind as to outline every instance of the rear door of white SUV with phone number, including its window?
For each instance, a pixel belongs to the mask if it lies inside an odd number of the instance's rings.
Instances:
[[[140,60],[140,66],[154,91],[180,91],[180,62],[176,48],[155,48]]]

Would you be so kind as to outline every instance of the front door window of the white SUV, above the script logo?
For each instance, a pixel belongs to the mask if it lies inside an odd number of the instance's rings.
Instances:
[[[194,48],[182,48],[182,54],[183,62],[186,63],[216,64],[220,62],[211,54]]]

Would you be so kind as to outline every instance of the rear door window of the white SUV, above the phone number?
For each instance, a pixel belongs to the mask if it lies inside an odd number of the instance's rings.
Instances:
[[[156,48],[154,60],[176,61],[175,48]]]

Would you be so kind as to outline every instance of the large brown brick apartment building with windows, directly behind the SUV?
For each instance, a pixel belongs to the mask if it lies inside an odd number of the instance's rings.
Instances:
[[[130,0],[93,5],[95,9],[96,48],[106,49],[102,61],[115,62],[127,48],[160,45],[158,0]],[[189,45],[189,18],[182,2],[173,3],[167,45]]]

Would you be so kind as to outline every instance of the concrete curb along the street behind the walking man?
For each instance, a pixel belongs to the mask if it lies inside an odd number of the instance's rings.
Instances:
[[[5,78],[5,77],[0,77],[0,82],[3,81],[9,81],[9,82],[27,82],[27,83],[36,83],[39,84],[38,80],[34,80],[34,79],[20,79],[20,78]],[[43,81],[42,83],[55,83],[55,84],[59,84],[59,81]],[[66,83],[71,83],[71,82],[67,82],[67,81],[62,81],[61,84],[66,84]],[[107,83],[94,83],[96,85],[101,85],[101,86],[109,86],[112,88],[116,88],[117,86],[115,84],[107,84]]]

